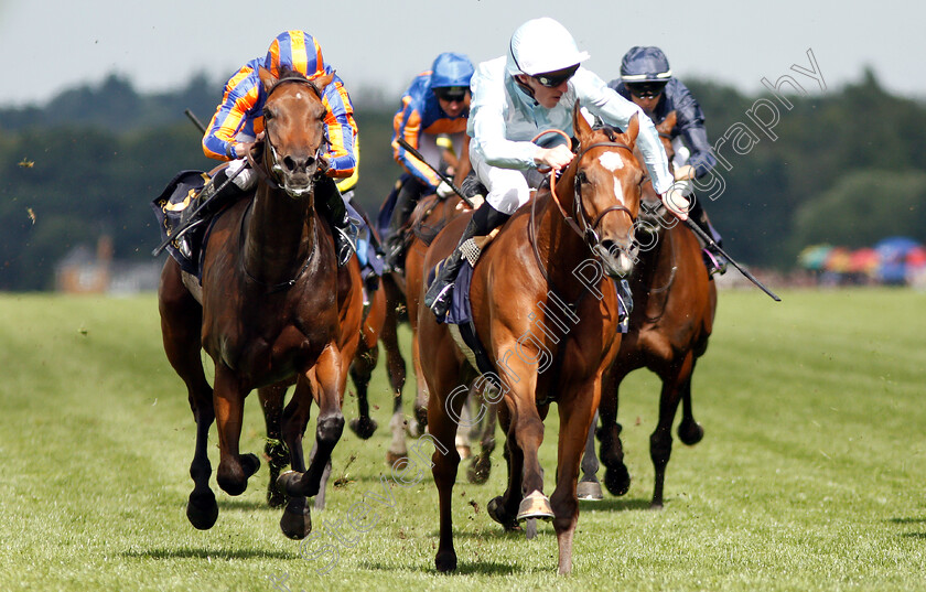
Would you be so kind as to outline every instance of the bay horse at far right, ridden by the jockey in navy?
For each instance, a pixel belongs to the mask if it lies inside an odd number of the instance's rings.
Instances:
[[[670,162],[674,150],[669,133],[675,125],[672,111],[656,126]],[[644,185],[644,205],[647,203],[659,205],[650,183]],[[640,223],[637,237],[642,246],[629,277],[634,309],[628,332],[621,341],[621,349],[605,379],[599,409],[602,422],[599,437],[605,486],[613,495],[624,495],[629,488],[631,476],[624,464],[622,427],[616,421],[618,390],[624,377],[635,369],[646,367],[658,375],[663,383],[659,419],[649,438],[649,455],[655,469],[650,505],[660,508],[679,401],[682,402],[679,439],[693,445],[704,434],[691,409],[691,376],[713,330],[717,286],[701,259],[701,245],[687,226],[660,205],[644,207]],[[583,461],[583,485],[596,482],[591,435],[589,446]]]

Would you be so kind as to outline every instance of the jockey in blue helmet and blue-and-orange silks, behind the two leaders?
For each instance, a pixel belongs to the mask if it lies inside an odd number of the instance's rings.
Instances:
[[[405,139],[432,165],[441,162],[443,149],[438,146],[439,136],[449,138],[454,154],[462,154],[469,143],[465,137],[472,77],[473,64],[469,57],[451,52],[440,54],[430,71],[412,80],[392,118],[392,154],[406,171],[397,183],[389,222],[388,261],[392,269],[400,268],[405,259],[401,228],[418,200],[422,195],[446,196],[452,192],[428,164],[406,151],[398,139]]]

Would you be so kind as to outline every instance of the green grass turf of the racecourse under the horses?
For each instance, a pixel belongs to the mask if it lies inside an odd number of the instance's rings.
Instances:
[[[430,474],[392,487],[394,508],[367,497],[379,521],[354,532],[353,547],[336,545],[324,574],[266,507],[266,464],[239,497],[213,477],[218,521],[195,530],[184,515],[194,423],[153,295],[0,295],[0,590],[926,590],[926,294],[783,297],[721,292],[693,385],[706,437],[692,448],[676,440],[661,512],[647,509],[658,383],[645,370],[625,381],[634,482],[625,497],[581,504],[574,571],[561,578],[549,524],[527,541],[486,515],[504,489],[500,450],[486,485],[460,473],[455,574],[433,569]],[[372,388],[380,430],[369,441],[345,430],[334,464],[344,484],[329,486],[319,531],[388,478],[381,366]],[[345,407],[356,416],[349,394]],[[554,423],[552,412],[548,494]],[[213,429],[213,466],[216,443]],[[252,396],[241,450],[262,446]],[[286,588],[271,577],[288,577]]]

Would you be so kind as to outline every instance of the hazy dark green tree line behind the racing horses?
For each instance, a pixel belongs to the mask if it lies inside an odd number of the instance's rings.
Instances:
[[[44,106],[0,109],[0,290],[52,287],[77,245],[112,237],[121,259],[144,259],[159,239],[150,202],[184,169],[208,170],[200,134],[224,80],[197,75],[172,93],[142,95],[112,75]],[[787,269],[810,244],[848,247],[881,237],[926,240],[926,105],[885,92],[872,72],[825,95],[790,96],[773,141],[749,119],[760,96],[686,80],[712,141],[739,123],[757,140],[726,150],[722,194],[707,204],[728,249],[744,262]],[[767,97],[766,97],[767,98]],[[399,98],[354,96],[360,129],[358,202],[375,213],[400,170],[389,149]],[[732,157],[731,157],[732,154]]]

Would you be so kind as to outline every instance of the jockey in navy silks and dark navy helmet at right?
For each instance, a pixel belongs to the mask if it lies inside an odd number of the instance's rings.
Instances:
[[[609,86],[633,100],[655,125],[676,112],[677,122],[670,132],[676,153],[675,179],[686,183],[685,193],[689,195],[690,180],[704,177],[717,165],[717,158],[708,142],[701,106],[688,87],[672,76],[666,55],[659,47],[631,47],[621,61],[621,77]],[[721,245],[720,234],[708,219],[701,200],[692,202],[691,219]],[[726,259],[713,246],[704,247],[703,259],[709,276],[726,271]]]

